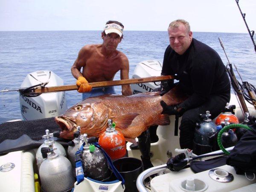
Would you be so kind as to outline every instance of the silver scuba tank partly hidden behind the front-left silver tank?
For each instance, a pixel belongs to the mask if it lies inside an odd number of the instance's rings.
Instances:
[[[55,131],[53,133],[49,133],[49,130],[45,130],[46,134],[42,136],[43,139],[46,139],[44,141],[44,143],[38,148],[37,152],[36,152],[36,164],[38,166],[38,170],[40,169],[40,165],[41,163],[43,162],[43,157],[42,157],[42,153],[41,153],[41,148],[42,147],[47,147],[49,146],[49,144],[52,144],[53,145],[53,148],[57,148],[57,150],[55,151],[56,153],[66,157],[66,151],[64,149],[64,147],[55,142],[51,137],[58,137],[59,136],[59,132],[58,131]]]

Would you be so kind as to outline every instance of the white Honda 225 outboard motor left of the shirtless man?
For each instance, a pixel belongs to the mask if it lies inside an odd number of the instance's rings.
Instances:
[[[64,81],[52,71],[29,73],[20,85],[31,87],[45,83],[45,87],[64,85]],[[67,110],[65,92],[25,96],[20,93],[20,111],[24,120],[44,119],[63,114]]]

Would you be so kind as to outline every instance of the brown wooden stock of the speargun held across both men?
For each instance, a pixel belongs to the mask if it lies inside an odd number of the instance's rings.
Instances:
[[[90,84],[93,88],[95,88],[95,87],[109,87],[109,86],[124,85],[124,84],[156,82],[156,81],[164,81],[169,79],[175,79],[175,76],[152,76],[152,77],[145,77],[145,78],[139,78],[139,79],[122,79],[122,80],[115,80],[115,81],[93,82],[88,84]],[[51,93],[51,92],[77,90],[77,89],[78,87],[76,84],[63,85],[63,86],[55,86],[55,87],[36,88],[31,93]]]

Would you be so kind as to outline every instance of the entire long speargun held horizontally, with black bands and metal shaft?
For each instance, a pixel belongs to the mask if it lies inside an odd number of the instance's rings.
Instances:
[[[175,79],[175,76],[152,76],[138,79],[122,79],[115,81],[101,81],[101,82],[93,82],[88,83],[93,88],[96,87],[109,87],[116,85],[125,85],[125,84],[137,84],[137,83],[146,83],[146,82],[157,82],[157,81],[166,81],[169,79]],[[79,87],[75,85],[63,85],[63,86],[55,86],[55,87],[45,87],[47,83],[41,83],[33,85],[32,87],[13,89],[13,90],[0,90],[0,93],[9,92],[9,91],[19,91],[20,94],[35,97],[40,95],[41,93],[52,93],[59,91],[68,91],[68,90],[77,90]]]

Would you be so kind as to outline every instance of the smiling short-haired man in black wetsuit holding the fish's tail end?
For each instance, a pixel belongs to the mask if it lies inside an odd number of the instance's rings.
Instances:
[[[214,119],[230,101],[230,81],[220,56],[211,47],[192,37],[189,23],[175,20],[168,28],[170,45],[166,48],[161,75],[177,75],[189,98],[177,106],[161,101],[163,113],[182,115],[180,147],[193,149],[195,124],[201,113],[210,111]],[[174,87],[163,87],[162,95]]]

